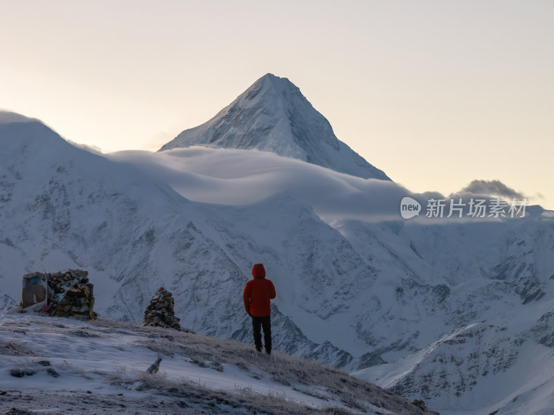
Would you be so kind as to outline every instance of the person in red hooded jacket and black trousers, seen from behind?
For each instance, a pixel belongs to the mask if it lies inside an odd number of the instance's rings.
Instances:
[[[262,264],[255,264],[252,268],[252,277],[244,287],[242,299],[244,308],[252,317],[254,344],[257,351],[262,351],[262,333],[264,330],[265,352],[271,354],[271,299],[275,298],[273,283],[265,278],[265,268]]]

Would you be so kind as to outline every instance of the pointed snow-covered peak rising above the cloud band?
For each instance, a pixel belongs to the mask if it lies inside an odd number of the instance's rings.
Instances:
[[[211,120],[183,131],[160,151],[193,145],[270,151],[352,176],[390,180],[337,139],[328,120],[296,85],[271,73]]]

